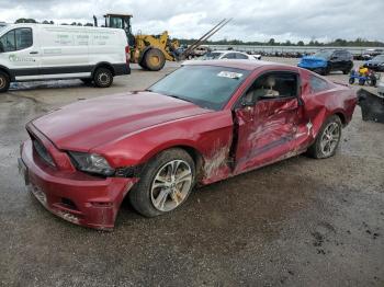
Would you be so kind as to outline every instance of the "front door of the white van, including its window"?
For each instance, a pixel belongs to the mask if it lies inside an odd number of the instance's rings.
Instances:
[[[31,27],[18,27],[0,37],[0,59],[16,80],[37,77],[39,73],[39,48]]]

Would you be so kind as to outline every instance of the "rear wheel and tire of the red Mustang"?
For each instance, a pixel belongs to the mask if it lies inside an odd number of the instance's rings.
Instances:
[[[332,128],[335,128],[335,133],[330,133]],[[306,153],[315,159],[326,159],[335,156],[340,144],[341,129],[342,124],[339,116],[332,115],[328,117],[316,136],[315,142],[308,148]],[[329,135],[331,135],[330,138]]]

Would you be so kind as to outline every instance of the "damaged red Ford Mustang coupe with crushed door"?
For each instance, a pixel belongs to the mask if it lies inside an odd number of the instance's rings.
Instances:
[[[307,152],[331,157],[357,96],[297,67],[193,61],[142,92],[67,105],[26,125],[19,168],[71,222],[112,229],[125,196],[144,216],[210,184]]]

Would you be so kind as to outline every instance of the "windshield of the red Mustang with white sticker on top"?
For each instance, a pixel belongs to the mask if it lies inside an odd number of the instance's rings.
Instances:
[[[248,70],[214,66],[184,66],[161,79],[148,91],[221,110],[250,73]]]

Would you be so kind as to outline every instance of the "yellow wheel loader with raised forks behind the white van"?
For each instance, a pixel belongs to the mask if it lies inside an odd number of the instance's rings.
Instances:
[[[138,33],[134,35],[132,33],[129,14],[105,14],[105,27],[123,28],[126,33],[129,48],[131,48],[131,61],[137,62],[143,69],[149,71],[161,70],[169,61],[179,61],[188,58],[188,56],[199,47],[203,42],[213,36],[218,30],[224,27],[229,20],[222,20],[212,30],[205,33],[200,39],[195,41],[189,48],[181,51],[178,41],[171,41],[168,32],[165,31],[160,35],[144,35]],[[94,26],[98,26],[98,20],[93,16]]]

